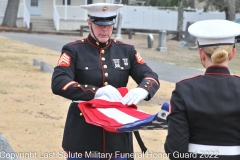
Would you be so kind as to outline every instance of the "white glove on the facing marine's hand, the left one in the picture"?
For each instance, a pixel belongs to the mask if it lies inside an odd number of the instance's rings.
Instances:
[[[121,100],[122,99],[120,92],[111,85],[107,85],[107,86],[99,88],[97,90],[97,92],[95,93],[94,98],[100,97],[103,95],[106,95],[111,100]]]

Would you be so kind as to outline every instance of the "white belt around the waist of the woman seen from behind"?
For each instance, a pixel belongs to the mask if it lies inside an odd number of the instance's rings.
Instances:
[[[240,155],[240,146],[211,146],[189,143],[188,152],[199,154]]]

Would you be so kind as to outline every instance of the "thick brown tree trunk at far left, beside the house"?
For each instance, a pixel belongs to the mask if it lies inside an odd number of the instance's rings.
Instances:
[[[20,0],[8,0],[2,26],[17,27],[17,13]]]

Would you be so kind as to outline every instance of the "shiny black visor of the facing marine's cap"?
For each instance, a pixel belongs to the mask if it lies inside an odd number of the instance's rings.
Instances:
[[[116,16],[112,17],[93,17],[89,15],[90,20],[92,23],[98,26],[111,26],[116,23]]]

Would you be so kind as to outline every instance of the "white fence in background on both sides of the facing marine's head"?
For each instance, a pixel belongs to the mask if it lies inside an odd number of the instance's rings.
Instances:
[[[56,6],[59,19],[86,20],[87,12],[80,6]],[[123,29],[167,30],[176,31],[178,12],[159,10],[158,7],[124,6],[119,10],[122,13]],[[187,22],[196,22],[207,19],[226,19],[225,12],[184,12],[183,31]]]

